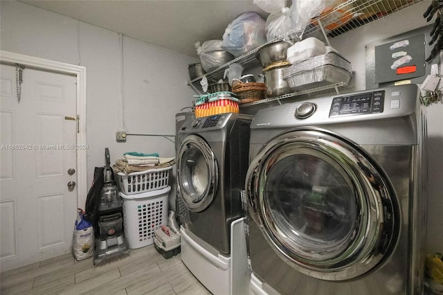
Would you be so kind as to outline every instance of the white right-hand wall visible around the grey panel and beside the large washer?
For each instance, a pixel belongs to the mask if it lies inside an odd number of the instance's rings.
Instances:
[[[429,1],[406,8],[379,21],[329,39],[352,64],[356,90],[365,89],[365,46],[428,25],[423,12]],[[435,18],[435,17],[434,17]],[[441,70],[440,73],[443,71]],[[443,251],[443,104],[427,107],[428,118],[428,229],[426,251]]]

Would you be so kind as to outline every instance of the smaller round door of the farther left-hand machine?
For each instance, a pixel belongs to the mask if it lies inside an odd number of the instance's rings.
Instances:
[[[177,153],[179,195],[190,211],[200,212],[213,202],[217,192],[217,160],[203,138],[190,135]]]

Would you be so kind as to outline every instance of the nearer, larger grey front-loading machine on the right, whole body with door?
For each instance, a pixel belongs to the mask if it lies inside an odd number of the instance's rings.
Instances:
[[[257,112],[246,176],[255,294],[422,294],[416,85]]]

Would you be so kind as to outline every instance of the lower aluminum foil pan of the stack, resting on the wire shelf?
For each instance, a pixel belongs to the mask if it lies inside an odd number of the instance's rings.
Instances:
[[[337,83],[343,83],[342,86],[345,86],[351,78],[352,73],[337,66],[326,65],[285,76],[284,80],[291,90],[302,91]]]

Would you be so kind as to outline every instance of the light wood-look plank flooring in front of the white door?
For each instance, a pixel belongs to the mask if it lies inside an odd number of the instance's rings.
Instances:
[[[0,294],[210,294],[181,262],[163,258],[154,245],[94,267],[93,258],[77,261],[66,254],[0,276]]]

